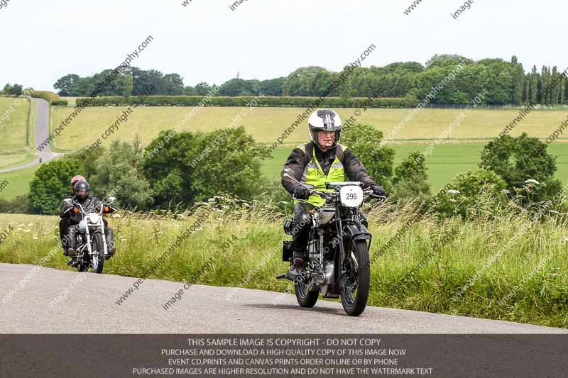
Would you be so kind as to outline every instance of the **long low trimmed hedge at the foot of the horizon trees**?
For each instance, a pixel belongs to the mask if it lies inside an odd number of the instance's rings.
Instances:
[[[121,96],[97,97],[95,99],[77,99],[77,106],[247,106],[256,99],[255,106],[271,107],[296,107],[309,108],[314,106],[318,97],[291,97],[291,96],[131,96],[129,98]],[[411,108],[418,104],[415,99],[406,98],[377,98],[366,99],[363,97],[351,97],[344,99],[341,97],[328,97],[324,99],[318,107],[329,108]]]

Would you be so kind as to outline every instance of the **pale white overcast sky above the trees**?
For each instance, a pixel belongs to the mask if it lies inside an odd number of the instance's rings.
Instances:
[[[463,1],[9,0],[0,9],[0,86],[53,90],[65,74],[87,76],[124,61],[148,35],[133,65],[178,73],[185,85],[236,77],[272,79],[298,67],[339,71],[368,45],[363,65],[424,64],[451,53],[474,60],[517,55],[525,70],[568,66],[565,0]]]

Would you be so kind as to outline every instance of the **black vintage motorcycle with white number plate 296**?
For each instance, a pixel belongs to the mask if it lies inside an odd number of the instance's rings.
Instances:
[[[369,248],[372,235],[368,232],[359,206],[364,195],[376,196],[371,189],[363,190],[361,182],[326,182],[326,189],[317,191],[309,184],[298,182],[288,173],[283,177],[292,179],[310,190],[310,195],[321,196],[325,204],[310,212],[312,228],[307,244],[307,261],[299,274],[292,270],[278,275],[277,279],[289,279],[295,284],[298,304],[313,307],[320,291],[324,298],[341,296],[343,308],[350,316],[363,313],[368,299],[370,284]],[[291,220],[284,224],[285,233],[293,235]],[[293,265],[291,241],[283,242],[283,261]]]

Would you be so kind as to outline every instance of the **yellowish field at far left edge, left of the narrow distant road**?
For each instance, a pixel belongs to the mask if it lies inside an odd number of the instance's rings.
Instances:
[[[29,116],[29,101],[0,97],[0,169],[35,158],[30,148],[33,133],[31,128],[28,130],[33,116],[31,120]]]

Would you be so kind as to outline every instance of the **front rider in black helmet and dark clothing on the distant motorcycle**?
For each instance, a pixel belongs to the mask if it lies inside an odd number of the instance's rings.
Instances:
[[[97,197],[95,196],[90,196],[89,195],[89,191],[91,189],[91,187],[89,186],[89,183],[87,181],[78,181],[75,184],[74,187],[74,195],[72,197],[72,199],[76,202],[78,202],[79,204],[81,204],[83,210],[86,213],[98,213],[101,210],[101,202],[99,201],[99,199],[97,199]],[[60,212],[60,217],[64,218],[64,217],[68,217],[70,219],[70,223],[72,224],[72,226],[69,226],[67,228],[67,233],[65,235],[65,241],[69,240],[69,243],[67,244],[67,256],[74,256],[75,255],[75,248],[76,248],[76,243],[77,243],[77,238],[75,237],[75,234],[77,233],[78,230],[78,224],[82,219],[82,215],[81,213],[75,213],[74,211],[70,210],[67,211],[67,209],[72,209],[74,206],[73,205],[69,205],[66,204],[65,202],[63,203],[63,207],[61,209]],[[104,221],[104,218],[103,218]],[[114,252],[116,252],[116,246],[114,245],[114,233],[112,231],[112,228],[107,227],[107,223],[105,222],[105,227],[104,227],[104,235],[105,238],[107,240],[107,245],[109,246],[109,257],[112,257],[114,255]]]

